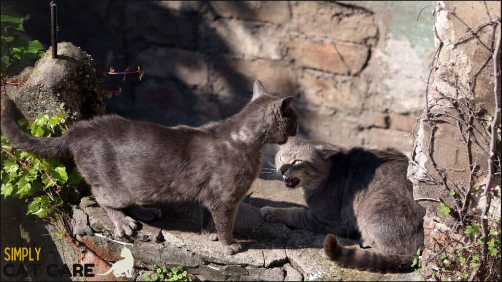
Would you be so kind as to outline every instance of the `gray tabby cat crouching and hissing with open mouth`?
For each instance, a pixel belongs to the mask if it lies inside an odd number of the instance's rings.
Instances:
[[[373,272],[410,272],[423,249],[425,210],[413,200],[408,158],[394,149],[342,149],[310,140],[281,146],[278,173],[286,186],[303,187],[309,209],[264,207],[268,221],[317,233],[360,233],[362,248],[339,246],[328,234],[324,250],[344,267]]]

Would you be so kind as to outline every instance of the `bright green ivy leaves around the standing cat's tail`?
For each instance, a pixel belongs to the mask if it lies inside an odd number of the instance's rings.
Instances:
[[[36,137],[58,136],[65,131],[66,116],[59,113],[49,117],[39,114],[34,122],[21,119],[23,130]],[[76,167],[66,167],[57,160],[42,159],[13,147],[2,135],[2,189],[1,194],[28,203],[27,213],[55,221],[64,212],[60,192],[81,180]]]

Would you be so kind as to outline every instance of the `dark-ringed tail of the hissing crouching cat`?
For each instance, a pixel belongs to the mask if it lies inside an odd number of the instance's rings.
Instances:
[[[338,245],[335,235],[328,234],[324,240],[324,252],[338,265],[370,272],[412,272],[415,255],[386,254],[364,249],[352,249]]]

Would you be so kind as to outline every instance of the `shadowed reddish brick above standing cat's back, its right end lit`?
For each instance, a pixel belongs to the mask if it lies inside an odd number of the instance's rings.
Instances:
[[[199,53],[168,47],[151,47],[139,54],[145,73],[149,76],[175,77],[189,85],[205,85],[207,64]]]

